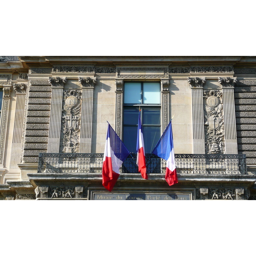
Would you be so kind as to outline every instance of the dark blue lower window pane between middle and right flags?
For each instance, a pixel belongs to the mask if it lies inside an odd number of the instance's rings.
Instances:
[[[160,139],[160,126],[143,126],[145,153],[152,153]]]

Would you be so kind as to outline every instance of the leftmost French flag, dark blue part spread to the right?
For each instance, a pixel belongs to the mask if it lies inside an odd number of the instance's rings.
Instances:
[[[102,185],[111,192],[119,177],[119,168],[130,152],[108,124],[107,139],[102,164]]]

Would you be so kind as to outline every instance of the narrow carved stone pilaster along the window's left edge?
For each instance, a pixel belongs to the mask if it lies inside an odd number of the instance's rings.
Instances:
[[[116,79],[116,134],[122,140],[122,112],[123,112],[123,87],[124,87],[124,80],[123,79]]]

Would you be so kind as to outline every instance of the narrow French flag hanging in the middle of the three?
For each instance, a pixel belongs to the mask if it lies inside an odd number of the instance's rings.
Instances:
[[[139,172],[143,179],[148,179],[148,175],[146,174],[146,160],[145,160],[145,147],[139,112],[139,120],[138,120],[138,133],[137,133],[137,166],[139,167]]]

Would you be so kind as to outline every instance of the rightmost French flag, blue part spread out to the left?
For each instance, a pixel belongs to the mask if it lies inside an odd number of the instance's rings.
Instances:
[[[172,120],[169,122],[152,153],[166,160],[165,179],[169,186],[178,183],[173,149]]]

